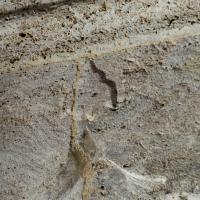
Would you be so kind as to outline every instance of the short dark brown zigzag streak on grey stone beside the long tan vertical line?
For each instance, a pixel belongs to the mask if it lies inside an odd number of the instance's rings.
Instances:
[[[91,66],[92,71],[99,75],[101,82],[105,83],[110,88],[110,97],[111,97],[111,101],[112,101],[112,106],[114,108],[116,108],[117,107],[117,95],[118,95],[116,83],[113,80],[108,79],[106,77],[105,72],[101,69],[98,69],[93,60],[90,60],[90,66]]]

